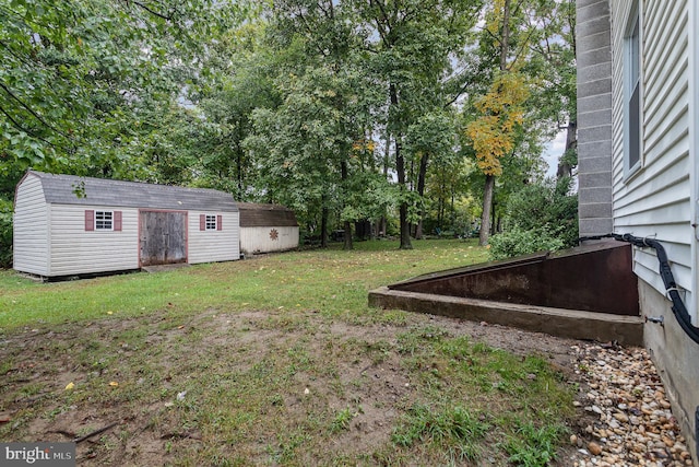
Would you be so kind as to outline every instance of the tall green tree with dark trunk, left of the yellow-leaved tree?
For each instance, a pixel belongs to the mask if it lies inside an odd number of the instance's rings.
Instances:
[[[356,1],[365,24],[368,68],[386,90],[382,121],[387,141],[393,143],[400,247],[404,249],[412,248],[408,214],[415,199],[406,176],[406,133],[420,114],[447,101],[441,94],[443,81],[451,72],[451,60],[465,48],[477,7],[478,2],[469,0]],[[426,171],[427,159],[423,161]]]

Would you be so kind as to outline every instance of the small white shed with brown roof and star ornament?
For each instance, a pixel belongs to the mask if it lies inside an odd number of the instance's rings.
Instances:
[[[253,202],[240,202],[238,209],[242,253],[252,255],[298,247],[298,222],[291,209]]]

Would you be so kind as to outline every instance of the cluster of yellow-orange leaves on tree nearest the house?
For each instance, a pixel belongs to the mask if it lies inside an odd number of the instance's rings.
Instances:
[[[476,151],[477,165],[486,175],[501,175],[500,157],[514,147],[514,129],[522,125],[529,91],[516,72],[502,73],[475,107],[481,115],[466,127]]]

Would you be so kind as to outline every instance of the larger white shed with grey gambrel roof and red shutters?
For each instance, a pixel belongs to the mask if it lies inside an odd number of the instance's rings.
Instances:
[[[14,197],[14,269],[54,278],[240,257],[232,195],[29,171]]]

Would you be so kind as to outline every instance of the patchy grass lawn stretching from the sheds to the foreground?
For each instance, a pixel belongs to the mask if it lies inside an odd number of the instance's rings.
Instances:
[[[56,283],[0,271],[0,440],[109,427],[80,465],[547,465],[573,387],[545,354],[367,306],[374,288],[487,257],[414,246]]]

